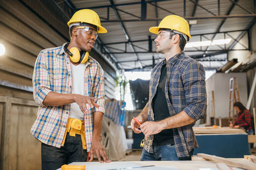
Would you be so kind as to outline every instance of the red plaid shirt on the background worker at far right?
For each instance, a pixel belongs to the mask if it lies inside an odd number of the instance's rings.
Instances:
[[[252,129],[250,111],[244,110],[239,112],[233,125],[239,125],[239,127],[243,127],[246,130]]]

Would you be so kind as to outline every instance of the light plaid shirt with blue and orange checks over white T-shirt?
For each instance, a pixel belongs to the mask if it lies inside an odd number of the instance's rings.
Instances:
[[[65,44],[64,44],[65,45]],[[35,138],[47,145],[61,147],[67,120],[70,114],[70,104],[63,106],[45,106],[45,96],[51,91],[60,94],[71,94],[72,72],[70,59],[64,52],[64,45],[56,48],[47,48],[39,53],[33,73],[33,94],[38,106],[38,113],[31,133]],[[97,99],[99,108],[90,108],[86,104],[88,113],[84,115],[85,137],[87,150],[92,145],[93,117],[92,113],[104,113],[104,78],[100,64],[89,57],[84,63],[84,96]]]

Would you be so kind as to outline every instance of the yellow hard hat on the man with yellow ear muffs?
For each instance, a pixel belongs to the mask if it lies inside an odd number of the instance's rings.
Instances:
[[[100,17],[93,10],[84,9],[76,11],[76,13],[74,13],[72,18],[70,18],[70,20],[68,21],[68,27],[76,23],[88,23],[95,25],[98,27],[98,33],[108,32],[104,27],[100,25]]]

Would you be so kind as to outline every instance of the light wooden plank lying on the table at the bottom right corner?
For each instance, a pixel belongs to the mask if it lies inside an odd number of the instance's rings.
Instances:
[[[214,155],[208,155],[205,153],[197,153],[196,154],[198,157],[202,157],[204,159],[207,160],[212,160],[214,162],[218,162],[218,163],[225,163],[228,166],[232,166],[232,167],[240,167],[243,169],[249,169],[249,170],[255,170],[256,169],[256,164],[252,163],[252,162],[246,162],[246,164],[242,161],[239,160],[228,160],[225,159],[223,157],[217,157]]]

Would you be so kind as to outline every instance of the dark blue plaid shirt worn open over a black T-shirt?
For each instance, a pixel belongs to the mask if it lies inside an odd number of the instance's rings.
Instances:
[[[153,69],[150,78],[148,106],[148,121],[154,121],[152,110],[152,99],[154,98],[159,78],[161,76],[161,67],[166,60],[159,62]],[[195,121],[205,118],[206,111],[206,90],[205,90],[205,71],[204,67],[181,52],[166,63],[166,83],[165,96],[168,105],[170,117],[177,115],[180,111],[185,111],[189,117]],[[185,125],[173,129],[173,138],[175,150],[178,157],[188,157],[189,152],[198,147],[198,143],[193,132],[193,124]],[[153,138],[150,135],[145,139],[144,149],[153,153]]]

